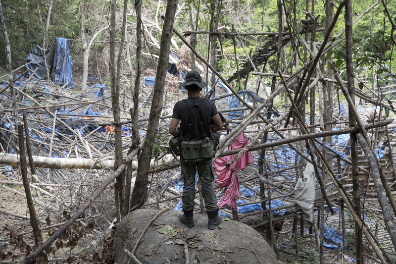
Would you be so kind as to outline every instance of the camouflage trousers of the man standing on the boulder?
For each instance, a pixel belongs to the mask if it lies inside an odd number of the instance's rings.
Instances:
[[[180,158],[180,168],[182,171],[182,180],[184,182],[182,194],[183,210],[189,211],[194,209],[194,199],[196,193],[195,176],[197,171],[206,211],[215,211],[217,209],[217,199],[212,184],[214,176],[211,161],[212,159],[209,158],[201,161],[190,160],[189,162],[185,162],[183,158]]]

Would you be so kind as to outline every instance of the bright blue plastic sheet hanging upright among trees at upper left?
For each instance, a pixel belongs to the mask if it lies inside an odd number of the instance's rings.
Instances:
[[[56,38],[55,57],[53,58],[53,81],[63,85],[66,84],[67,88],[73,87],[72,64],[69,48],[67,47],[67,39]]]

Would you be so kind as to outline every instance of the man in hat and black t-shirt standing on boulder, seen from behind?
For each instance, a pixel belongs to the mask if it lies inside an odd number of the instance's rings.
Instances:
[[[181,171],[184,182],[182,201],[183,214],[179,220],[187,227],[195,225],[193,219],[195,199],[195,176],[198,175],[201,183],[201,191],[208,216],[207,227],[216,229],[221,223],[218,214],[216,194],[212,181],[214,179],[211,160],[213,157],[213,141],[210,140],[210,132],[216,132],[223,128],[220,115],[215,104],[208,99],[199,97],[202,88],[207,84],[202,82],[201,76],[196,70],[186,74],[186,81],[182,83],[188,93],[188,99],[179,101],[173,107],[169,133],[174,137],[181,137]],[[180,129],[177,125],[181,121]],[[211,126],[210,123],[213,123]]]

